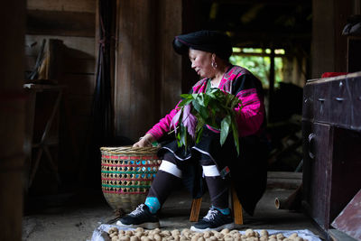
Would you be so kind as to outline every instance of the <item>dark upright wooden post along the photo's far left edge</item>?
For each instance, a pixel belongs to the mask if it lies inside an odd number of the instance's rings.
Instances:
[[[25,1],[7,1],[0,8],[5,23],[0,38],[0,240],[22,240],[25,17]]]

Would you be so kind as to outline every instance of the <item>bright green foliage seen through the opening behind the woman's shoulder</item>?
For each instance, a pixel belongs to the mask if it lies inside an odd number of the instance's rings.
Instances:
[[[244,49],[249,52],[262,52],[261,49]],[[266,51],[267,52],[267,51]],[[270,82],[270,64],[271,58],[269,56],[250,56],[242,54],[234,54],[229,58],[229,61],[232,64],[239,65],[244,67],[247,70],[250,70],[258,79],[261,79],[264,88],[269,88]],[[282,82],[282,57],[274,58],[274,87],[277,88],[279,83]]]

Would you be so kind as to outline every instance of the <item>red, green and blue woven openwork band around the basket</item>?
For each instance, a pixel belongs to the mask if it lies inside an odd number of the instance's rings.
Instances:
[[[161,161],[156,155],[102,153],[101,180],[105,193],[147,193]]]

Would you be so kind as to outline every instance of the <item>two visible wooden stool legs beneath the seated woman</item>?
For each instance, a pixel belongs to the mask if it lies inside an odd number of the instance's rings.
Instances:
[[[235,219],[235,224],[242,225],[243,224],[242,205],[236,196],[236,190],[233,188],[233,185],[231,188],[231,199],[232,199],[233,218]],[[191,209],[190,209],[190,222],[198,222],[201,204],[202,204],[202,198],[192,200]]]

